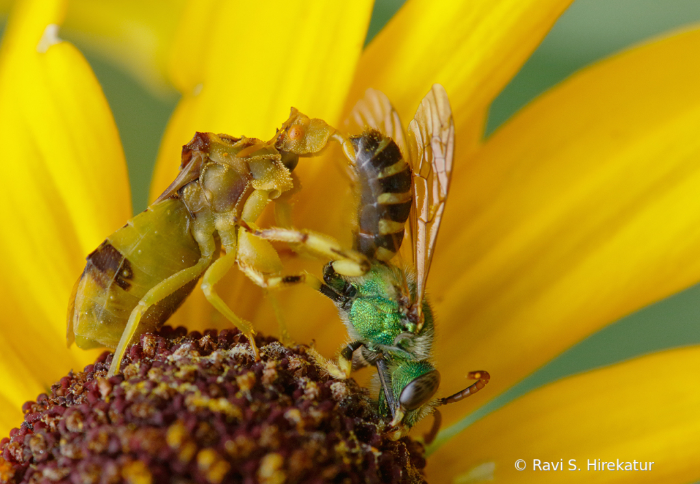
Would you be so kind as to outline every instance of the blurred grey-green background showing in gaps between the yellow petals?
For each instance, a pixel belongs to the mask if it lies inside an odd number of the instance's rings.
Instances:
[[[402,3],[400,0],[377,0],[367,42]],[[486,135],[533,97],[577,69],[693,22],[700,22],[699,0],[575,1],[493,102]],[[140,212],[146,207],[158,144],[177,97],[174,94],[155,97],[125,71],[91,53],[90,46],[81,45],[69,34],[64,37],[83,50],[109,99],[129,163],[134,212]],[[698,59],[689,59],[688,62],[698,62]],[[700,286],[694,286],[587,338],[472,418],[478,418],[533,387],[572,373],[668,347],[700,343],[699,321]],[[640,388],[640,395],[643,392],[644,389]]]

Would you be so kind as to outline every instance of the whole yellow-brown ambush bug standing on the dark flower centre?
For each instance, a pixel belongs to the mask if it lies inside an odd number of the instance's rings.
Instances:
[[[279,276],[281,261],[272,245],[239,228],[241,223],[254,228],[267,202],[293,188],[290,172],[299,157],[316,155],[332,139],[351,149],[325,121],[296,109],[267,142],[195,134],[183,146],[179,175],[158,200],[87,256],[69,304],[68,344],[116,348],[109,368],[115,375],[127,346],[162,326],[204,275],[207,300],[248,338],[258,359],[253,327],[223,302],[214,285],[235,263],[262,287],[304,280]],[[366,270],[360,254],[314,233],[295,233],[312,251],[318,247],[322,256]]]

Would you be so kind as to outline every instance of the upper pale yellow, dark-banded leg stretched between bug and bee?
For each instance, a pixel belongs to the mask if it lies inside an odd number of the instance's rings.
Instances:
[[[332,259],[333,268],[339,274],[356,277],[365,275],[370,270],[370,263],[363,254],[352,249],[345,249],[337,240],[327,235],[311,230],[290,228],[259,229],[247,223],[241,223],[241,227],[262,239],[278,240],[288,244],[303,244],[312,254]]]

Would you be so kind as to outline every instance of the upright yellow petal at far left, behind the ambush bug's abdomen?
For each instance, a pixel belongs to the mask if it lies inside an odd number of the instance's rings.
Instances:
[[[63,8],[58,1],[18,3],[0,50],[0,203],[8,207],[0,235],[8,321],[2,338],[11,342],[0,373],[11,368],[43,384],[94,359],[94,352],[66,350],[69,293],[85,254],[130,216],[109,106],[80,53],[48,27]],[[36,396],[25,394],[29,387],[3,385],[0,393],[26,400]]]

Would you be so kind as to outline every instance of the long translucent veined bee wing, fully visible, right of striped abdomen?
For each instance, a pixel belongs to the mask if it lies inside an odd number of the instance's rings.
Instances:
[[[430,261],[452,176],[454,120],[442,85],[433,85],[418,106],[408,126],[407,143],[413,170],[414,209],[410,229],[416,268],[416,310],[421,314]]]

